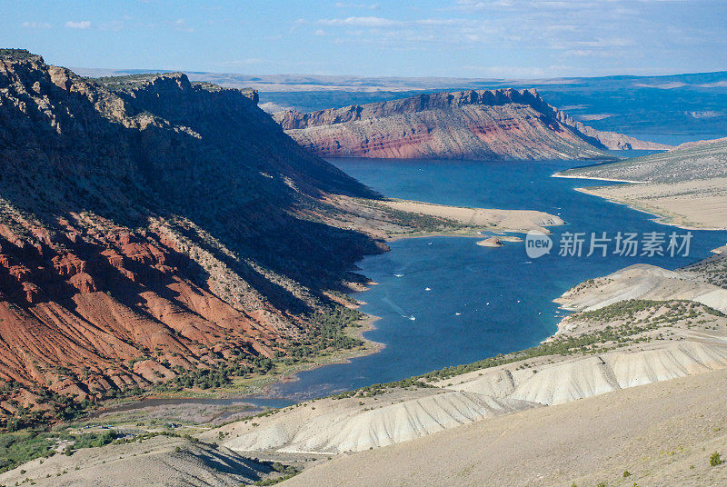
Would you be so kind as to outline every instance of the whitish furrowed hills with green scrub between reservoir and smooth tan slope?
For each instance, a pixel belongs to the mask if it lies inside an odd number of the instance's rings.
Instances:
[[[630,270],[584,283],[559,302],[580,313],[520,355],[496,358],[413,382],[375,386],[286,408],[220,431],[240,452],[360,452],[483,418],[568,403],[602,393],[727,366],[727,290],[691,277],[677,283],[630,279]],[[622,277],[623,276],[623,277]],[[660,287],[669,293],[659,294]],[[699,291],[692,287],[702,286]],[[619,288],[620,299],[609,290]],[[674,289],[678,288],[678,289]],[[680,290],[682,291],[680,293]],[[702,303],[712,294],[712,306]],[[584,304],[584,296],[603,300]],[[497,363],[503,363],[497,365]],[[420,383],[417,383],[420,382]],[[416,387],[418,386],[418,387]],[[413,391],[409,389],[413,387]]]

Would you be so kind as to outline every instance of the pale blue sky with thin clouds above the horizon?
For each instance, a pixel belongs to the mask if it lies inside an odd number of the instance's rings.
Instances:
[[[727,70],[725,0],[2,0],[0,12],[0,46],[65,66],[505,78]]]

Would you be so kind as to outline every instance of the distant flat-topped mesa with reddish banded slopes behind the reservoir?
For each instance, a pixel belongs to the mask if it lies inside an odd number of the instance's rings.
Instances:
[[[535,90],[420,94],[274,117],[299,144],[332,157],[588,159],[603,149],[666,148],[596,131]]]

